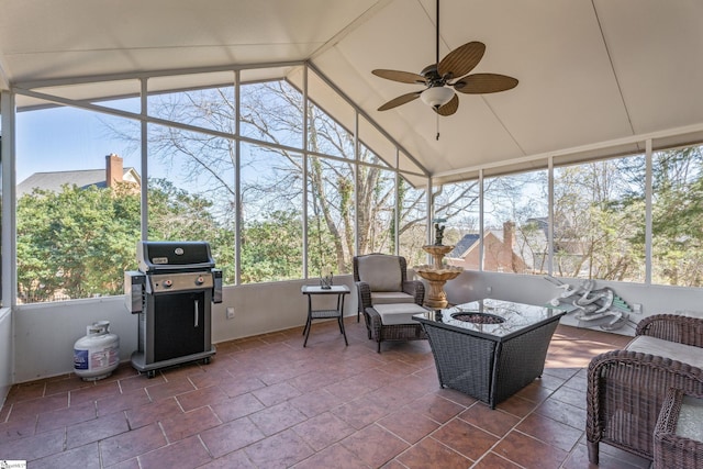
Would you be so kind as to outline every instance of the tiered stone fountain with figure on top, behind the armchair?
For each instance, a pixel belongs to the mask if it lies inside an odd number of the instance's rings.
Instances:
[[[447,308],[447,293],[444,291],[444,284],[457,278],[464,271],[462,267],[446,266],[443,263],[444,256],[454,249],[454,246],[445,246],[442,244],[444,226],[435,223],[435,244],[423,246],[422,248],[432,255],[432,265],[422,265],[415,267],[415,272],[429,283],[429,292],[425,297],[425,305],[435,310]]]

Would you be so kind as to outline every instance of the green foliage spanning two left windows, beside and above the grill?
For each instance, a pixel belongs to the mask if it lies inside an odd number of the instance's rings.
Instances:
[[[149,188],[150,239],[205,239],[213,232],[228,238],[210,214],[210,202],[163,180]],[[123,292],[124,271],[137,267],[141,237],[140,193],[133,185],[35,189],[20,198],[16,212],[21,302]]]

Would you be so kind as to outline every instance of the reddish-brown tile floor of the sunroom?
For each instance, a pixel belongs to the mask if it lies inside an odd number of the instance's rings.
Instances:
[[[122,365],[85,382],[14,386],[0,459],[34,468],[588,468],[584,367],[629,337],[559,326],[545,372],[491,411],[439,389],[426,342],[376,353],[364,323],[217,345],[153,379]],[[649,461],[601,445],[601,468]]]

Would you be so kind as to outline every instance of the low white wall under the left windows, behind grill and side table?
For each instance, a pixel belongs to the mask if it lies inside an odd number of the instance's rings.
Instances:
[[[335,281],[353,286],[350,276],[335,277]],[[212,342],[216,344],[303,325],[308,300],[300,287],[314,282],[311,279],[225,287],[223,302],[212,305]],[[332,304],[335,299],[317,297],[314,308],[331,308],[324,302]],[[345,315],[355,315],[356,304],[356,295],[348,294]],[[227,306],[234,308],[232,320],[226,319]],[[7,316],[9,323],[10,315]],[[110,321],[110,331],[120,337],[121,360],[127,361],[137,348],[138,315],[127,312],[123,297],[22,305],[16,308],[14,320],[14,383],[71,372],[74,343],[86,335],[86,326],[96,321]],[[7,330],[7,335],[11,336],[9,325]],[[4,322],[0,322],[0,340],[9,343],[2,340],[4,336]]]

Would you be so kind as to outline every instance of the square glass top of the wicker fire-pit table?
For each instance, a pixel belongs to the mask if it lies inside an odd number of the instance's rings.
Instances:
[[[563,314],[565,311],[551,308],[484,299],[415,314],[413,317],[420,322],[460,330],[467,334],[506,337]]]

